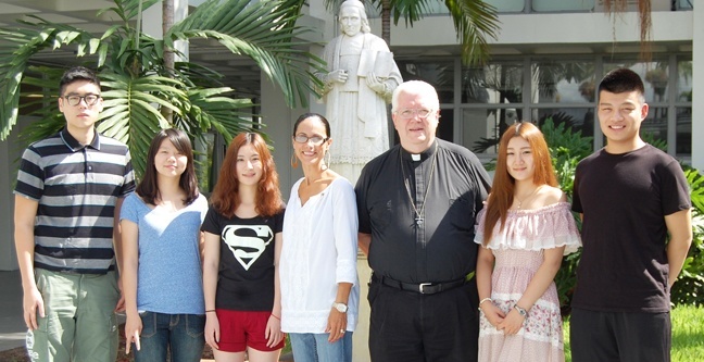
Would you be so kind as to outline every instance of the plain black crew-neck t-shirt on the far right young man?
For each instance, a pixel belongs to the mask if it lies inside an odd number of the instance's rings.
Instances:
[[[598,151],[577,166],[573,210],[583,214],[573,307],[605,312],[669,310],[665,215],[691,207],[682,168],[646,145]]]

